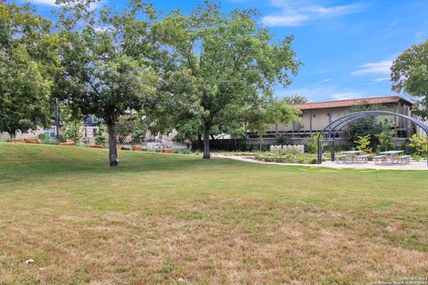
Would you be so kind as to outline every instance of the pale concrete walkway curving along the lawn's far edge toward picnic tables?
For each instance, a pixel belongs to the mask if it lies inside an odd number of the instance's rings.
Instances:
[[[256,159],[251,159],[250,157],[242,156],[224,156],[224,155],[212,155],[215,158],[221,159],[235,159],[239,161],[259,163],[259,164],[272,164],[278,166],[292,166],[292,167],[329,167],[329,168],[353,168],[353,169],[387,169],[387,170],[428,170],[426,165],[426,160],[420,161],[410,161],[410,164],[394,164],[394,165],[382,165],[374,164],[374,161],[369,161],[368,163],[335,163],[332,161],[324,161],[323,164],[301,164],[301,163],[279,163],[279,162],[266,162]]]

